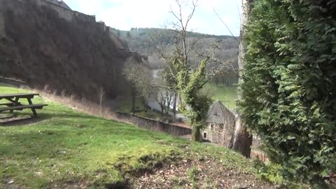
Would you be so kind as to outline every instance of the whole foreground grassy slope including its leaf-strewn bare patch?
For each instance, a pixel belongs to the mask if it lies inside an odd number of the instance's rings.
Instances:
[[[0,94],[13,92],[27,91],[0,84]],[[225,148],[88,116],[41,97],[34,102],[49,104],[38,111],[39,119],[0,125],[0,188],[153,188],[167,183],[191,188],[206,181],[223,186],[226,180],[236,186],[269,186],[255,179],[252,162]],[[162,170],[170,173],[166,181],[144,180],[144,173],[156,176]],[[235,179],[239,176],[246,181]]]

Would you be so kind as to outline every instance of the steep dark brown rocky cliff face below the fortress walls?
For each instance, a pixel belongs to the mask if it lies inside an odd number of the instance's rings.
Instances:
[[[132,53],[88,17],[43,0],[0,0],[0,75],[78,97],[100,87],[110,97],[123,94],[123,64]]]

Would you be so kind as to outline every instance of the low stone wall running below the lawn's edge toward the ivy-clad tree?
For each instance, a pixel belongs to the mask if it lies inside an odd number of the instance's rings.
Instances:
[[[188,128],[188,127],[181,127],[179,125],[163,123],[158,120],[143,118],[143,117],[136,116],[136,115],[129,114],[129,113],[114,112],[114,114],[115,114],[114,116],[116,116],[116,118],[118,118],[119,120],[123,120],[127,123],[132,123],[134,125],[137,125],[138,127],[141,127],[147,130],[165,132],[167,134],[172,134],[176,136],[183,136],[183,135],[191,134],[191,128]]]

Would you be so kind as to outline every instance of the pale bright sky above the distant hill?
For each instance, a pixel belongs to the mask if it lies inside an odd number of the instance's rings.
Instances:
[[[186,0],[181,0],[186,1]],[[97,21],[120,30],[132,27],[162,28],[175,22],[170,10],[176,10],[174,0],[64,0],[71,9],[87,15],[96,15]],[[199,0],[195,15],[190,21],[189,31],[202,34],[230,35],[230,31],[239,36],[241,0]],[[190,6],[183,9],[190,13]]]

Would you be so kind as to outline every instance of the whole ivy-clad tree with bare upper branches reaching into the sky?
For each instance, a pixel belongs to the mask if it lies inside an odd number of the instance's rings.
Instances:
[[[181,110],[193,127],[192,139],[201,141],[200,129],[206,124],[211,99],[200,90],[221,72],[219,66],[216,69],[208,68],[214,67],[214,64],[228,66],[228,62],[220,62],[214,57],[215,51],[218,50],[218,43],[204,45],[208,48],[202,48],[197,52],[195,47],[199,45],[202,38],[188,39],[191,33],[188,28],[197,8],[197,1],[176,0],[175,2],[177,10],[174,11],[172,8],[171,13],[176,22],[171,23],[172,29],[169,30],[174,39],[174,48],[172,52],[168,52],[166,48],[154,45],[154,49],[167,64],[165,78],[169,81],[167,82],[169,88],[180,94]]]

